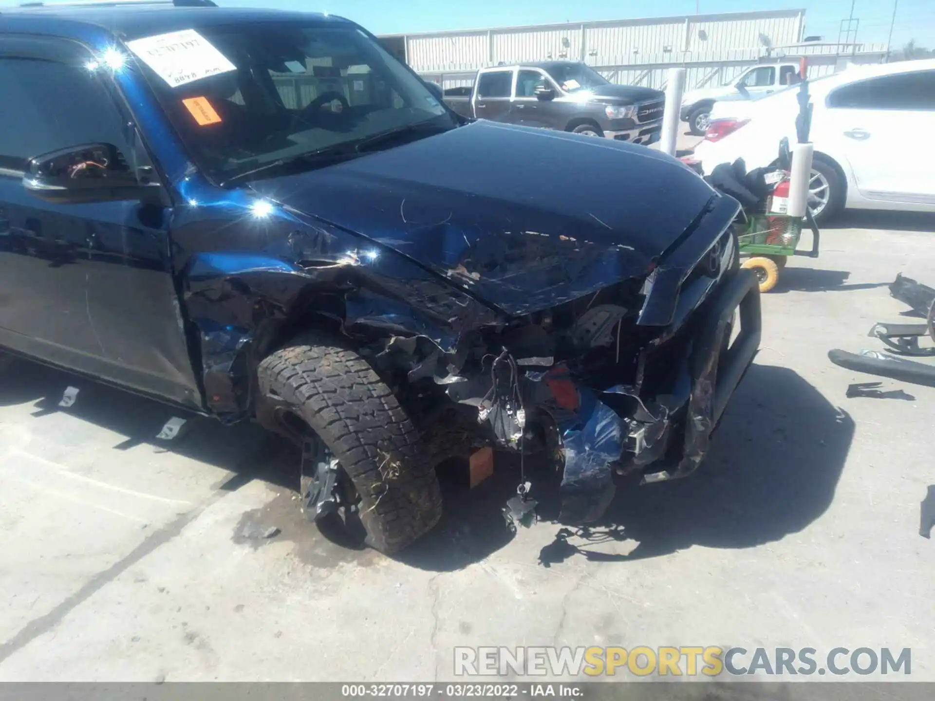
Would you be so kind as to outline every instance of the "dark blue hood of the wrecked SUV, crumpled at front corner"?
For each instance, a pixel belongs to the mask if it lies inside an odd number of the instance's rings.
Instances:
[[[252,187],[508,314],[646,276],[718,196],[645,147],[493,122]]]

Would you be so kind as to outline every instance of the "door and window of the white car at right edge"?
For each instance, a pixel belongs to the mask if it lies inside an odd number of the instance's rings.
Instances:
[[[935,204],[935,70],[843,85],[827,98],[820,135],[843,153],[870,200]]]

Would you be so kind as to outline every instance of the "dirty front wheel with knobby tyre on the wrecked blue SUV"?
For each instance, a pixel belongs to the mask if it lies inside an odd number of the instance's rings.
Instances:
[[[324,513],[311,514],[324,517],[316,520],[333,526],[330,517],[338,508],[346,516],[355,510],[367,545],[386,553],[405,548],[439,522],[439,481],[418,432],[360,355],[334,336],[310,332],[261,361],[257,381],[261,393],[286,408],[283,421],[306,429],[303,464],[313,465],[316,474],[302,485],[303,497],[318,504],[327,497]],[[329,477],[329,493],[322,494]]]

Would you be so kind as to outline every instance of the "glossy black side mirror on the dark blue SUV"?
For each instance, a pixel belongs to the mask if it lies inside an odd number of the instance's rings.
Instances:
[[[137,178],[113,144],[83,144],[31,158],[22,186],[46,202],[72,205],[144,200],[160,192],[151,172]]]

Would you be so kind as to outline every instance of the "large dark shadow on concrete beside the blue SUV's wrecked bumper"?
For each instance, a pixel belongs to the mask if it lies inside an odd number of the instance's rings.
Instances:
[[[626,562],[693,545],[753,548],[797,533],[830,505],[853,436],[851,417],[796,372],[753,365],[698,473],[618,490],[601,523],[572,531],[564,544],[556,538],[541,561],[581,554]],[[588,551],[596,540],[625,538],[639,542],[627,555]]]

